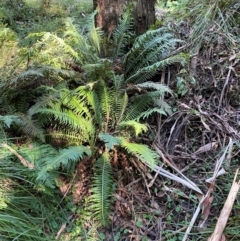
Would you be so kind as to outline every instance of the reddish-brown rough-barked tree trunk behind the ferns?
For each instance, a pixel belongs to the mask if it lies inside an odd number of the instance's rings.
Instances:
[[[146,32],[155,23],[155,0],[93,0],[94,8],[98,9],[96,26],[105,33],[116,28],[125,6],[134,2],[134,29],[136,34]]]

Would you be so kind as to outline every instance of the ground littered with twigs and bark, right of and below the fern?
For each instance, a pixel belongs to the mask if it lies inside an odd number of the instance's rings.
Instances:
[[[65,10],[71,11],[70,8]],[[227,18],[229,12],[224,11],[223,16]],[[239,6],[232,11],[239,14]],[[82,18],[86,14],[84,9],[78,13]],[[52,16],[56,17],[55,14],[61,16],[61,9]],[[174,95],[167,97],[173,114],[149,119],[149,131],[141,138],[143,143],[159,153],[167,170],[173,174],[177,173],[176,170],[184,174],[204,195],[209,190],[206,180],[212,177],[217,162],[224,159],[221,168],[226,173],[216,179],[211,193],[213,201],[202,205],[205,212],[198,216],[188,238],[207,240],[240,164],[239,26],[231,26],[227,35],[225,29],[217,25],[217,19],[209,21],[211,24],[204,26],[204,34],[197,41],[201,44],[196,45],[195,37],[190,38],[194,27],[196,30],[194,24],[197,18],[188,16],[181,22],[175,22],[171,11],[164,10],[162,14],[158,24],[170,25],[175,35],[186,41],[182,51],[191,53],[191,59],[187,66],[169,66],[154,77],[155,81],[173,90]],[[162,20],[165,16],[166,22]],[[57,27],[60,19],[55,22]],[[11,22],[10,15],[8,21]],[[21,28],[33,26],[28,17],[12,21],[9,24],[19,33]],[[42,22],[35,26],[43,27]],[[54,22],[48,27],[55,30]],[[82,236],[74,239],[71,229],[68,233],[68,229],[64,228],[60,229],[63,240],[90,240],[94,236],[96,240],[116,241],[182,240],[199,205],[196,192],[124,155],[118,157],[113,167],[117,188],[111,225],[108,229],[98,230],[91,219],[81,223],[79,220],[84,214],[78,208],[70,219],[75,223],[75,229],[81,229]],[[86,159],[78,164],[76,175],[71,180],[64,177],[59,180],[63,196],[72,195],[74,203],[81,207],[91,192],[91,177],[91,162]],[[226,240],[240,239],[239,223],[238,195],[224,232]]]

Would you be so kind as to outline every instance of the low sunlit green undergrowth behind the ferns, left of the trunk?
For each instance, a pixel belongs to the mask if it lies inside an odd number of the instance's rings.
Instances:
[[[17,33],[19,44],[27,46],[32,43],[26,39],[29,33],[54,32],[64,26],[67,17],[77,18],[84,23],[85,17],[93,10],[91,1],[44,1],[6,0],[0,1],[0,19],[6,27]]]

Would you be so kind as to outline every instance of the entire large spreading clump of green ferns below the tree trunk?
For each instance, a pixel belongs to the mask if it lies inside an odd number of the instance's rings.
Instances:
[[[151,78],[169,64],[184,63],[185,57],[171,54],[180,41],[166,28],[135,36],[131,7],[112,36],[94,26],[94,14],[84,29],[68,18],[59,35],[29,35],[38,41],[18,50],[14,70],[4,60],[0,123],[6,145],[0,158],[31,164],[24,175],[39,190],[55,188],[59,171],[70,172],[75,163],[91,158],[88,210],[107,225],[115,186],[113,153],[124,152],[148,166],[158,162],[138,137],[148,129],[145,118],[171,112],[164,101],[171,90]],[[1,48],[15,51],[16,39],[8,31],[1,28],[0,37],[6,33]],[[32,148],[19,148],[14,133]]]

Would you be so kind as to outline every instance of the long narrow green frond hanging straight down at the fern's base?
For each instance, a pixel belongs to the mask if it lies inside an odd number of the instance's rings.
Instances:
[[[109,223],[112,191],[113,173],[108,153],[105,152],[96,161],[91,196],[93,217],[103,226]]]

